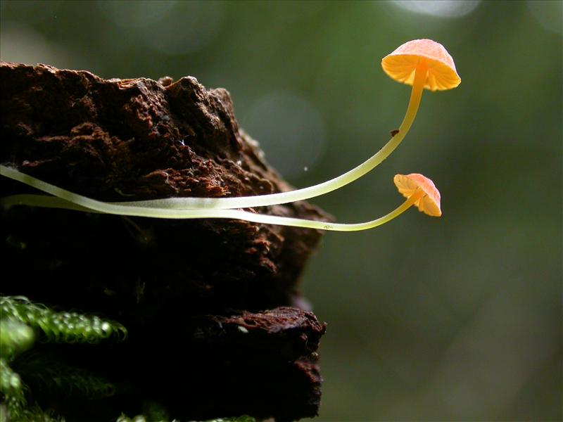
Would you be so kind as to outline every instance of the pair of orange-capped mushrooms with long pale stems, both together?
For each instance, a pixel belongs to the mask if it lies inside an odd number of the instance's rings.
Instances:
[[[33,186],[50,196],[13,195],[1,198],[4,207],[13,205],[32,205],[39,207],[57,207],[85,212],[102,212],[115,215],[154,217],[169,219],[227,218],[243,219],[249,222],[279,224],[284,226],[306,227],[332,231],[358,231],[372,229],[384,224],[415,205],[427,215],[439,217],[440,193],[434,183],[422,174],[398,174],[394,182],[398,191],[405,196],[405,202],[384,217],[358,224],[337,224],[318,222],[308,219],[296,219],[263,215],[241,210],[241,208],[259,207],[290,203],[324,195],[359,179],[383,162],[405,139],[417,115],[422,92],[452,89],[460,84],[461,79],[455,70],[453,58],[445,48],[430,39],[408,41],[393,53],[381,60],[381,66],[391,78],[412,86],[407,112],[398,131],[393,131],[391,139],[377,153],[362,164],[341,174],[339,177],[324,181],[307,188],[296,189],[269,195],[243,196],[233,198],[165,198],[132,202],[106,203],[77,195],[58,188],[30,175],[5,165],[0,166],[0,174],[24,184]]]

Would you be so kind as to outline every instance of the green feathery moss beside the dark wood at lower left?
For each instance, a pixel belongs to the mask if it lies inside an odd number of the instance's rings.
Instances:
[[[25,381],[59,397],[94,399],[115,393],[112,383],[89,371],[54,361],[33,350],[23,353],[32,348],[36,337],[44,343],[94,344],[123,340],[126,336],[125,327],[115,321],[76,312],[56,312],[20,296],[1,296],[0,422],[64,420],[34,403]]]

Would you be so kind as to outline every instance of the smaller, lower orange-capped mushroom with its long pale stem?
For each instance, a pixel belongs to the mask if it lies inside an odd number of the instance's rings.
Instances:
[[[66,191],[44,181],[40,181],[32,176],[18,172],[9,167],[2,166],[2,170],[7,177],[22,181],[25,184],[38,188],[53,196],[43,195],[13,195],[0,199],[3,207],[9,208],[13,205],[32,205],[37,207],[66,208],[70,210],[84,212],[103,212],[106,214],[127,215],[131,217],[153,217],[168,219],[196,219],[196,218],[227,218],[241,219],[248,222],[263,224],[277,224],[280,226],[305,227],[308,229],[320,229],[331,231],[359,231],[372,229],[381,224],[391,221],[395,217],[403,214],[412,205],[428,215],[439,217],[440,193],[434,183],[422,174],[408,174],[403,176],[397,174],[393,179],[400,193],[407,198],[403,204],[395,210],[389,212],[384,217],[371,220],[369,222],[356,224],[341,224],[320,222],[308,219],[298,219],[291,217],[279,217],[276,215],[258,214],[243,210],[170,210],[155,207],[139,207],[135,205],[115,205],[115,203],[104,203],[99,200],[87,198],[77,193]]]

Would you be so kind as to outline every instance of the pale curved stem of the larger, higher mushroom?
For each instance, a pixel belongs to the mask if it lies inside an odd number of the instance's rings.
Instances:
[[[296,200],[305,200],[315,198],[315,196],[324,195],[331,191],[335,191],[342,186],[359,179],[377,165],[381,164],[393,151],[399,146],[401,141],[405,139],[409,132],[412,122],[415,121],[417,111],[422,98],[422,91],[424,90],[424,83],[426,82],[427,65],[422,61],[417,66],[415,71],[415,80],[412,84],[412,91],[410,94],[410,101],[407,107],[407,112],[399,127],[399,132],[385,144],[377,153],[372,155],[371,158],[362,162],[362,164],[355,167],[339,177],[335,177],[329,181],[324,181],[321,184],[309,186],[307,188],[297,189],[295,191],[271,193],[268,195],[257,196],[241,196],[234,198],[166,198],[156,200],[142,200],[132,202],[119,202],[117,205],[140,205],[143,207],[156,207],[156,208],[169,208],[172,210],[191,210],[191,209],[228,209],[228,208],[248,208],[248,207],[261,207],[265,205],[275,205],[295,202]]]

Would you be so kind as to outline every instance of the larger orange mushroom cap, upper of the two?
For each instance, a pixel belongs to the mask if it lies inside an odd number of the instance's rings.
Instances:
[[[422,60],[428,66],[424,88],[431,91],[452,89],[462,82],[450,53],[442,44],[431,39],[405,42],[381,60],[381,67],[396,81],[412,85],[415,81],[415,70]]]

